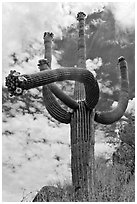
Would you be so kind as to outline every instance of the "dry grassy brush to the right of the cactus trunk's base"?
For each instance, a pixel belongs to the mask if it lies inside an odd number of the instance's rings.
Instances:
[[[96,200],[99,202],[135,201],[134,175],[127,183],[125,165],[109,163],[104,158],[96,160]],[[130,196],[131,195],[131,196]]]

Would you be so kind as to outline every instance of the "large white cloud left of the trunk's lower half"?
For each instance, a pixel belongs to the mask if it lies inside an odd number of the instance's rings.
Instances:
[[[6,119],[3,123],[3,201],[20,201],[23,189],[27,194],[49,182],[71,181],[67,125],[53,128],[41,114],[34,120],[30,114],[16,112],[16,117]],[[6,131],[12,134],[8,136]],[[55,155],[61,158],[60,161]]]

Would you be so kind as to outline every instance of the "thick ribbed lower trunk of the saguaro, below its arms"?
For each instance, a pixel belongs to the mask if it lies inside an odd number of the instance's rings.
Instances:
[[[71,116],[71,170],[76,201],[94,200],[94,110],[84,102]]]

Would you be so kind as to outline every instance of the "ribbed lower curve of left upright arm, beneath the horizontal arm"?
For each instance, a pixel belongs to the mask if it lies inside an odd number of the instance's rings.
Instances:
[[[70,123],[71,114],[65,111],[56,101],[48,86],[42,88],[44,104],[49,114],[61,123]]]

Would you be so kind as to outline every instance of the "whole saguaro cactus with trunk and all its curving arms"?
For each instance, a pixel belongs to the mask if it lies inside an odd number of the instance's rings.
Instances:
[[[76,200],[94,201],[94,121],[111,124],[124,114],[128,104],[128,67],[124,57],[118,59],[121,73],[121,91],[117,107],[98,112],[95,106],[99,100],[99,86],[93,74],[86,69],[85,14],[79,12],[78,63],[76,68],[51,70],[51,44],[53,34],[44,33],[45,55],[39,60],[40,72],[24,74],[10,71],[6,86],[11,95],[19,96],[24,90],[43,86],[43,99],[48,112],[59,122],[70,124],[71,128],[71,171]],[[67,96],[53,82],[74,80],[74,99]],[[56,97],[73,111],[64,110]]]

